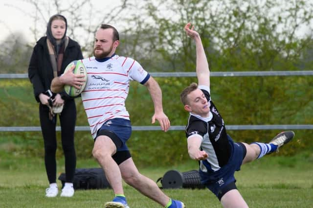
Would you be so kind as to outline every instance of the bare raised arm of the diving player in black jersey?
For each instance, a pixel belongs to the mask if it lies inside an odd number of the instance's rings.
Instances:
[[[198,85],[205,85],[210,87],[209,64],[207,62],[206,55],[203,49],[201,37],[199,33],[194,30],[194,26],[191,26],[191,23],[187,23],[184,29],[186,31],[186,34],[190,38],[194,39],[196,43],[196,54],[197,54],[196,72],[198,78]]]

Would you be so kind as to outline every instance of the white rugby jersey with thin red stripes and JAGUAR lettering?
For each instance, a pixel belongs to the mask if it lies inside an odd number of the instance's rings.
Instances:
[[[91,135],[108,119],[130,119],[125,107],[130,81],[144,84],[150,77],[132,58],[113,55],[103,62],[95,57],[81,60],[87,69],[87,83],[81,93]]]

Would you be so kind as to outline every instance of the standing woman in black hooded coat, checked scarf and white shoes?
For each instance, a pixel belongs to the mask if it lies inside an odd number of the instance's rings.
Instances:
[[[79,44],[66,36],[67,19],[53,15],[47,24],[46,36],[36,43],[28,67],[28,77],[33,85],[34,95],[39,102],[39,117],[45,146],[45,169],[49,181],[46,197],[57,196],[56,183],[56,121],[60,119],[61,140],[65,156],[66,183],[61,196],[74,194],[73,178],[76,168],[74,130],[76,106],[74,98],[65,92],[51,93],[50,85],[54,77],[63,74],[67,65],[83,59]],[[61,112],[61,113],[60,113]],[[57,116],[59,115],[59,116]]]

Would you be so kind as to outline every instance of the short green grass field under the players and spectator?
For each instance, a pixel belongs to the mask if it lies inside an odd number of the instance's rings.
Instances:
[[[157,165],[158,166],[158,165]],[[78,160],[77,168],[98,167],[93,160]],[[312,153],[295,157],[265,157],[242,166],[237,186],[250,208],[312,208]],[[175,167],[141,167],[140,172],[156,181],[168,170],[197,169],[195,162]],[[64,172],[63,160],[58,172]],[[46,198],[47,179],[41,158],[0,158],[0,208],[104,208],[112,189],[76,190],[72,198]],[[58,180],[59,187],[61,182]],[[161,186],[161,184],[158,184]],[[221,208],[207,189],[163,189],[182,200],[187,208]],[[125,185],[131,208],[160,208],[158,204]]]

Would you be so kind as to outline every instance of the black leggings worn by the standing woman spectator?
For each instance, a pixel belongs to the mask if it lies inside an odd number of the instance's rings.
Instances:
[[[55,121],[49,119],[49,109],[46,105],[40,104],[39,116],[40,124],[45,144],[45,170],[49,183],[56,183],[57,165],[55,153],[57,150],[56,140],[56,118]],[[66,182],[72,183],[76,168],[76,153],[74,147],[74,131],[76,123],[76,105],[74,100],[65,102],[63,111],[59,114],[61,126],[61,140],[65,157]]]

